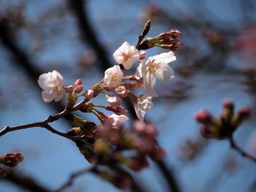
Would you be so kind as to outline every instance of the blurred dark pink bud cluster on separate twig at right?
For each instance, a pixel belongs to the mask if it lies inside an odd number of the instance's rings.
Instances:
[[[250,116],[249,107],[241,107],[237,114],[234,114],[232,100],[223,100],[223,110],[219,118],[213,117],[210,112],[200,110],[194,114],[194,119],[204,126],[200,133],[205,138],[226,139],[232,136],[233,132]]]

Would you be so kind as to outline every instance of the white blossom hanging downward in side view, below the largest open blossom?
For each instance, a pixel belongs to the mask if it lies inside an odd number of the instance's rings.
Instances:
[[[134,109],[140,121],[144,121],[146,111],[149,111],[150,108],[153,106],[153,102],[151,101],[152,97],[158,96],[155,92],[146,93],[144,95],[140,95],[137,101],[134,102]]]

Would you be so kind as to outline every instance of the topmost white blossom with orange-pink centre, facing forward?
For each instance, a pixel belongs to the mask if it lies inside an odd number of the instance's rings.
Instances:
[[[113,57],[117,63],[122,63],[125,69],[129,70],[132,64],[140,59],[140,52],[134,46],[130,46],[128,42],[124,42],[121,47],[115,51]]]

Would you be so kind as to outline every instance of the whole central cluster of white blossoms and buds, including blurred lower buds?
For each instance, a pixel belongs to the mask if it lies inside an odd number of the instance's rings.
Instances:
[[[149,31],[150,21],[146,23],[143,38]],[[152,91],[156,85],[156,78],[169,82],[174,78],[174,71],[168,63],[175,61],[174,52],[181,46],[178,37],[181,32],[176,29],[161,33],[156,38],[147,38],[137,46],[131,46],[124,42],[113,54],[117,65],[105,71],[104,78],[91,89],[83,91],[82,80],[78,79],[74,85],[64,86],[64,78],[57,71],[44,73],[39,77],[38,84],[43,89],[42,97],[45,102],[60,101],[67,93],[66,111],[73,109],[81,112],[92,113],[100,121],[97,126],[94,122],[83,120],[81,117],[66,114],[65,119],[75,127],[67,134],[72,137],[83,137],[84,140],[74,140],[81,154],[89,163],[101,164],[107,169],[93,170],[98,175],[105,175],[117,188],[124,189],[131,184],[131,178],[122,166],[138,171],[149,165],[147,156],[152,160],[160,160],[165,155],[156,142],[157,131],[154,125],[144,121],[146,112],[153,106],[152,97],[157,97],[155,92],[146,92],[136,95],[135,90],[144,87],[145,91]],[[154,40],[154,42],[153,42]],[[169,52],[161,53],[147,58],[147,52],[140,47],[148,45],[166,48]],[[151,43],[151,44],[150,44]],[[170,44],[171,43],[171,44]],[[168,45],[166,45],[168,44]],[[161,46],[163,45],[163,46]],[[153,47],[153,46],[151,46]],[[149,47],[149,48],[151,48]],[[171,48],[170,48],[171,47]],[[132,76],[124,76],[123,70],[129,70],[138,62],[136,73]],[[99,94],[106,96],[109,105],[97,105],[91,100]],[[84,97],[83,104],[77,108],[78,97]],[[134,110],[139,120],[134,121],[131,129],[126,130],[122,125],[129,120],[127,110],[121,107],[122,98],[130,97],[134,101]],[[112,113],[105,115],[99,110],[105,109]],[[133,151],[130,156],[122,151]]]

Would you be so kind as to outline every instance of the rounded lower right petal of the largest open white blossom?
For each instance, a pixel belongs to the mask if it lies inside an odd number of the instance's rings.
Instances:
[[[164,82],[169,82],[174,78],[174,71],[173,69],[166,63],[161,62],[161,67],[159,68],[159,71],[155,73],[155,76],[159,78],[159,80]]]

